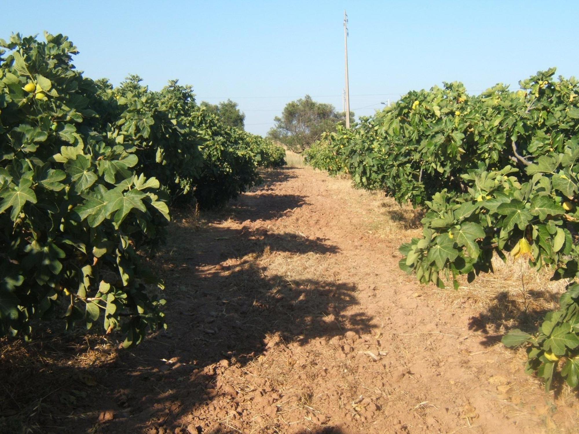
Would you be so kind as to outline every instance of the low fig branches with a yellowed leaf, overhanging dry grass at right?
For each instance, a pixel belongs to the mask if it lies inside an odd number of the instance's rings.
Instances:
[[[441,273],[447,280],[452,276],[456,287],[459,274],[472,281],[481,271],[491,271],[493,251],[503,258],[510,251],[537,269],[544,264],[567,267],[576,256],[574,234],[579,230],[579,145],[566,145],[565,153],[541,156],[527,166],[527,182],[519,182],[519,171],[510,165],[500,171],[481,168],[462,176],[466,193],[436,193],[426,203],[423,238],[400,248],[400,267],[420,282],[441,287]],[[569,273],[561,269],[563,274]]]

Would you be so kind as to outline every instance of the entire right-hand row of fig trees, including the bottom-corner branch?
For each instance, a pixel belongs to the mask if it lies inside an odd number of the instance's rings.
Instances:
[[[547,389],[559,363],[579,385],[579,82],[554,73],[537,72],[516,91],[497,84],[469,95],[456,82],[412,91],[306,151],[313,167],[426,207],[423,236],[400,248],[401,269],[422,283],[456,288],[458,275],[472,281],[507,252],[570,279],[536,334],[503,339],[527,343],[527,372]]]

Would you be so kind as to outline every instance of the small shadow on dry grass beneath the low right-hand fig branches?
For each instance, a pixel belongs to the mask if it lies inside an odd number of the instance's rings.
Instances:
[[[496,344],[511,329],[535,333],[550,309],[544,307],[544,302],[536,303],[534,300],[553,303],[558,301],[559,296],[548,290],[529,290],[525,297],[501,291],[490,300],[490,307],[486,311],[470,318],[468,329],[485,334],[481,342],[483,345]]]

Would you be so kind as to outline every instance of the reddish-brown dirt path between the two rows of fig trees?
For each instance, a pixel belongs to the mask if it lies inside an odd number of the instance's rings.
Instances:
[[[420,233],[391,221],[398,205],[380,214],[382,196],[310,168],[265,177],[225,210],[202,214],[200,227],[188,215],[172,223],[155,259],[170,327],[96,369],[105,387],[87,429],[577,429],[574,400],[526,376],[524,351],[469,328],[480,308],[451,307],[398,268],[398,246]]]

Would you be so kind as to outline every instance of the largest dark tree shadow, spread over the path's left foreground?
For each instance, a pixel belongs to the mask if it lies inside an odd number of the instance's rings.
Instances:
[[[358,304],[356,286],[267,273],[252,255],[336,251],[289,233],[177,228],[156,260],[167,285],[168,330],[129,350],[117,350],[115,336],[66,333],[22,343],[20,353],[0,347],[0,431],[186,434],[195,427],[179,420],[196,412],[213,423],[199,432],[239,432],[250,416],[238,411],[238,392],[218,380],[227,369],[243,370],[275,345],[374,327],[372,317],[345,313]],[[83,340],[93,350],[82,351]],[[283,431],[275,404],[264,417]],[[318,432],[339,432],[328,429]]]

